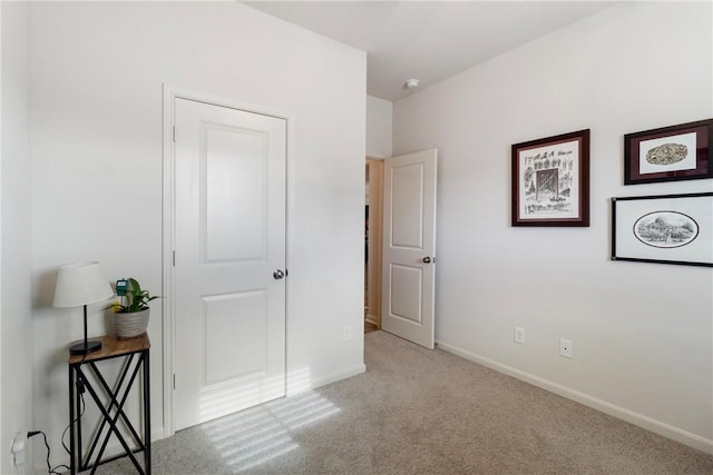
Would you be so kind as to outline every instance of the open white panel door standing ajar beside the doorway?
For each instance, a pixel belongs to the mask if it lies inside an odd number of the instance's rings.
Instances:
[[[382,328],[433,348],[436,149],[384,160]]]

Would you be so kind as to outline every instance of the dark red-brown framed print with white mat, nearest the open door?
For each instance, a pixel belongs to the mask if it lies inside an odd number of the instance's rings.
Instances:
[[[512,146],[512,226],[589,226],[589,129]]]

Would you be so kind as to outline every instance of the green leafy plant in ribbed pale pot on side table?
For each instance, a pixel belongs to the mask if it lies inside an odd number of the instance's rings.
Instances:
[[[107,307],[114,311],[114,329],[119,339],[133,338],[146,331],[150,311],[148,303],[158,298],[156,295],[152,296],[148,290],[141,289],[134,277],[126,280],[128,280],[126,294],[120,295],[119,300]]]

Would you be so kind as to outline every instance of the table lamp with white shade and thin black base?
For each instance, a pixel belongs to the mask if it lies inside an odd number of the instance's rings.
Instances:
[[[53,306],[85,307],[85,339],[69,348],[71,355],[88,355],[101,348],[101,342],[87,342],[87,305],[108,300],[113,296],[114,290],[99,263],[70,264],[59,269]]]

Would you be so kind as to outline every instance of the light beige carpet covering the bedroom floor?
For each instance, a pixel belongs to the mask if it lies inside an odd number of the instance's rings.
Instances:
[[[155,443],[153,473],[713,474],[713,456],[384,331],[365,336],[365,362]]]

